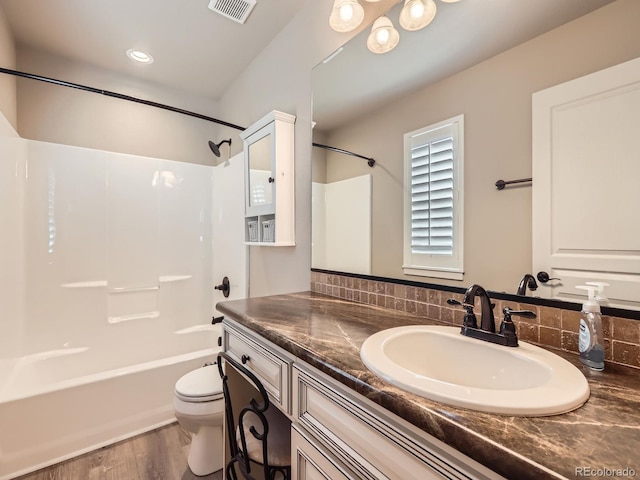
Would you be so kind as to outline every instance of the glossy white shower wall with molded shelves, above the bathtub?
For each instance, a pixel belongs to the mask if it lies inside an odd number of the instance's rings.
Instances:
[[[0,137],[0,368],[208,324],[208,166]]]

